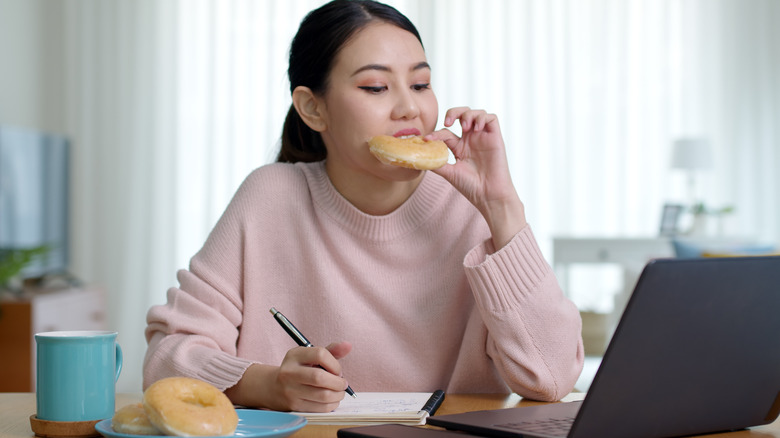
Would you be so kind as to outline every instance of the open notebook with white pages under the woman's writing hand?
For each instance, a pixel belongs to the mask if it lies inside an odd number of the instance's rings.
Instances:
[[[344,397],[333,412],[295,412],[309,424],[424,424],[444,400],[444,392],[359,392]]]

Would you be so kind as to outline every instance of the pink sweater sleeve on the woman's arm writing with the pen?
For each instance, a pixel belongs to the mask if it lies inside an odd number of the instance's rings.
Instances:
[[[253,174],[254,175],[254,174]],[[203,248],[178,272],[167,303],[147,313],[143,387],[169,376],[204,380],[224,390],[252,361],[237,355],[243,322],[247,218],[257,177],[236,192]]]

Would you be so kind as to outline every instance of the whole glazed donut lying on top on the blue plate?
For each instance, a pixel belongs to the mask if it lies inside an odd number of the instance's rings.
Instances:
[[[233,435],[238,414],[227,396],[213,385],[189,377],[168,377],[144,391],[149,421],[166,435]]]

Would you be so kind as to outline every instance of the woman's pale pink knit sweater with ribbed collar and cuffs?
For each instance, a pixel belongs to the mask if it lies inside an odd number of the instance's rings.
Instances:
[[[356,392],[510,391],[557,400],[582,369],[579,312],[529,227],[494,252],[482,216],[428,172],[385,216],[362,213],[323,163],[272,164],[246,179],[168,303],[147,315],[144,387],[185,375],[234,385],[296,344],[350,341]]]

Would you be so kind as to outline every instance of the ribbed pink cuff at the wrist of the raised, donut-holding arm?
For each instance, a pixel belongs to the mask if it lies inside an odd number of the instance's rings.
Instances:
[[[464,266],[478,304],[489,311],[516,307],[553,276],[530,225],[498,251],[493,252],[491,240],[473,248]]]

